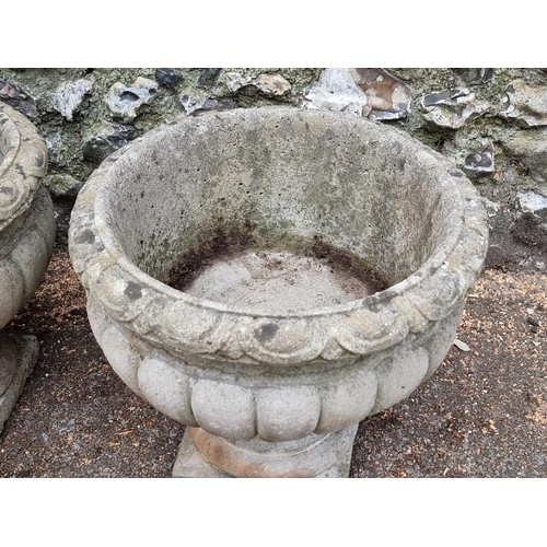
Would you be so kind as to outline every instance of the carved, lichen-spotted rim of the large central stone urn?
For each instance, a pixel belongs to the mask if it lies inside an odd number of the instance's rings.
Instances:
[[[244,109],[247,113],[253,109]],[[265,107],[264,116],[317,115],[291,107]],[[237,116],[238,110],[221,113]],[[219,115],[219,114],[217,114]],[[349,116],[321,113],[321,116]],[[191,124],[193,118],[178,123]],[[359,123],[377,126],[362,119]],[[315,359],[340,359],[366,354],[389,347],[409,333],[422,330],[431,322],[446,317],[459,305],[478,276],[488,247],[488,224],[481,198],[463,172],[446,159],[404,131],[383,126],[397,139],[410,142],[428,162],[439,168],[440,181],[451,188],[451,198],[459,200],[459,226],[451,237],[400,282],[363,299],[345,304],[294,313],[257,313],[177,291],[152,278],[120,251],[112,230],[96,216],[101,188],[115,162],[131,147],[146,144],[148,136],[168,130],[156,128],[108,156],[82,188],[71,218],[70,254],[74,269],[91,298],[128,330],[171,352],[228,354],[278,365],[291,365]],[[143,144],[142,144],[143,146]],[[426,168],[426,167],[424,167]],[[105,282],[108,278],[109,281]],[[129,288],[129,289],[128,289]],[[131,290],[131,288],[136,290]],[[138,299],[135,299],[138,293]],[[158,317],[158,314],[161,317]],[[184,333],[176,324],[199,315],[202,327]],[[154,316],[155,315],[155,316]],[[286,345],[257,340],[256,333],[267,323],[291,330],[300,342]],[[162,328],[158,328],[162,326]],[[167,326],[167,328],[163,328]],[[258,337],[259,338],[259,337]],[[236,340],[232,344],[230,340]],[[280,347],[274,347],[274,342]]]

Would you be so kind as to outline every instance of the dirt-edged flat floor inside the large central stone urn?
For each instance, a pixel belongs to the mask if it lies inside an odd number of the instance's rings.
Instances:
[[[256,248],[245,232],[188,253],[170,286],[194,296],[260,313],[302,312],[362,299],[388,284],[365,261],[319,238]]]

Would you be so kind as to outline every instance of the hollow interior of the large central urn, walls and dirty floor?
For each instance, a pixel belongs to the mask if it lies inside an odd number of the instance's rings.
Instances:
[[[336,120],[279,110],[166,128],[109,170],[104,232],[156,280],[252,314],[345,304],[442,259],[462,214],[454,184],[403,133]]]

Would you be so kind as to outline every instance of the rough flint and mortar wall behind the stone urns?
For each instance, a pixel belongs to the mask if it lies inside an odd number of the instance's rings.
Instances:
[[[45,184],[71,198],[109,153],[181,115],[290,104],[395,125],[491,201],[487,265],[547,271],[547,69],[0,69],[0,101],[36,125]]]

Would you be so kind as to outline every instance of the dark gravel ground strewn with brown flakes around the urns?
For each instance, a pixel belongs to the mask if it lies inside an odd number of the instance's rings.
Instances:
[[[0,477],[168,477],[184,427],[137,397],[96,345],[67,252],[69,202],[44,283],[7,328],[40,358],[0,434]],[[351,477],[547,476],[546,276],[487,269],[457,339],[409,398],[363,420]]]

